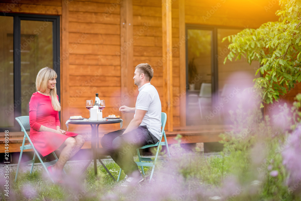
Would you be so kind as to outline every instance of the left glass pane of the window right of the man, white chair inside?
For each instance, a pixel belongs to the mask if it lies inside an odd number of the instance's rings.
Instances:
[[[187,125],[207,124],[212,109],[212,30],[187,29]]]

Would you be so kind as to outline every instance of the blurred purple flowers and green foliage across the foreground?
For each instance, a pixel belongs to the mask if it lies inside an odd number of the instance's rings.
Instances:
[[[172,159],[158,162],[154,181],[120,187],[99,166],[82,177],[67,168],[66,184],[53,184],[41,169],[10,174],[10,200],[301,200],[301,94],[289,109],[262,117],[258,101],[240,101],[231,113],[233,129],[221,134],[224,150],[206,157],[197,149],[171,147]],[[253,103],[250,104],[250,103]],[[178,138],[179,139],[179,138]],[[179,139],[180,140],[180,139]],[[164,157],[164,151],[162,151]],[[117,177],[119,167],[107,164]],[[121,178],[125,175],[123,174]],[[3,179],[0,196],[5,200]]]

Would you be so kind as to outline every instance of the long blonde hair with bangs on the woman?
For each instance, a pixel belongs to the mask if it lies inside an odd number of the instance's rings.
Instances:
[[[57,78],[56,72],[49,68],[45,67],[42,68],[36,78],[36,88],[37,91],[45,92],[47,89],[48,80],[51,78]],[[50,98],[51,98],[51,105],[55,111],[61,111],[61,104],[58,102],[57,99],[57,91],[56,91],[56,85],[54,84],[54,89],[50,90]]]

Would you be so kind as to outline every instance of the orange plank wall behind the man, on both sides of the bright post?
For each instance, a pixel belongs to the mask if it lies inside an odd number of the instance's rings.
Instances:
[[[178,2],[172,4],[172,71],[173,71],[173,125],[179,126],[179,29],[178,29]],[[151,84],[158,90],[161,105],[163,106],[163,68],[162,63],[162,2],[133,0],[133,65],[149,63],[154,68],[154,77]],[[162,111],[164,108],[162,107]]]

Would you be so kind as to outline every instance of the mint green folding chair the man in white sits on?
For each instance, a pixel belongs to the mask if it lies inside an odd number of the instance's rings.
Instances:
[[[163,146],[163,145],[166,146],[166,151],[167,151],[168,157],[170,158],[170,153],[169,153],[169,149],[168,149],[168,143],[167,143],[167,139],[166,139],[166,135],[165,135],[165,131],[164,131],[164,127],[165,127],[165,124],[166,124],[166,119],[167,119],[166,113],[162,112],[161,113],[161,126],[162,126],[162,129],[161,129],[161,137],[160,137],[159,142],[157,142],[156,144],[145,145],[145,146],[142,146],[142,147],[140,147],[140,148],[137,149],[137,154],[138,154],[139,162],[136,162],[136,163],[137,163],[138,166],[141,167],[142,174],[145,175],[143,166],[153,167],[152,170],[151,170],[151,176],[150,176],[149,182],[151,182],[151,179],[152,179],[153,174],[154,174],[155,165],[156,165],[156,162],[157,162],[157,159],[158,159],[158,154],[159,154],[160,146]],[[162,137],[164,137],[164,141],[165,142],[162,142]],[[151,159],[151,158],[149,158],[149,157],[141,157],[139,149],[146,149],[146,148],[153,147],[153,146],[157,146],[157,152],[156,152],[154,160]],[[147,162],[143,162],[143,161],[147,161]],[[120,168],[117,181],[119,181],[119,178],[120,178],[120,175],[121,175],[121,171],[122,171],[122,169]]]

